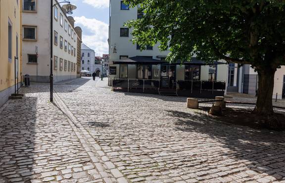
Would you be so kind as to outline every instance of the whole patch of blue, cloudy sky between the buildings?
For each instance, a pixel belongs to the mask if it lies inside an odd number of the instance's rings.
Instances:
[[[108,54],[109,0],[70,0],[77,6],[72,16],[82,28],[82,41],[96,56]]]

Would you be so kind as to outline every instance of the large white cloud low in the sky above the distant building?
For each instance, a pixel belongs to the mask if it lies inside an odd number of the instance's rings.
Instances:
[[[109,25],[95,18],[85,16],[74,17],[75,23],[82,28],[82,42],[91,49],[95,50],[96,56],[108,54],[108,28]],[[92,35],[84,34],[84,29],[88,29]]]

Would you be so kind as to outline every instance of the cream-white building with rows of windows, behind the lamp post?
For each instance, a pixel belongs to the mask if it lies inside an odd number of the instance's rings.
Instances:
[[[23,75],[29,74],[32,82],[49,82],[52,34],[53,81],[76,78],[78,34],[74,19],[66,15],[57,0],[22,2]]]

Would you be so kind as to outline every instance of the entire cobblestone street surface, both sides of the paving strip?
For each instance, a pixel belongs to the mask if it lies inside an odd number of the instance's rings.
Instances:
[[[285,183],[285,132],[89,78],[54,89],[56,105],[37,84],[0,108],[0,183]]]

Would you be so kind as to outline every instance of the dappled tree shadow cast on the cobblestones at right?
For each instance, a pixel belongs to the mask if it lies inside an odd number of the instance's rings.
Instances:
[[[220,156],[246,160],[250,170],[267,173],[278,180],[285,177],[285,132],[219,122],[202,112],[167,112],[174,118],[176,130],[206,134],[219,142],[222,148],[227,149]]]

